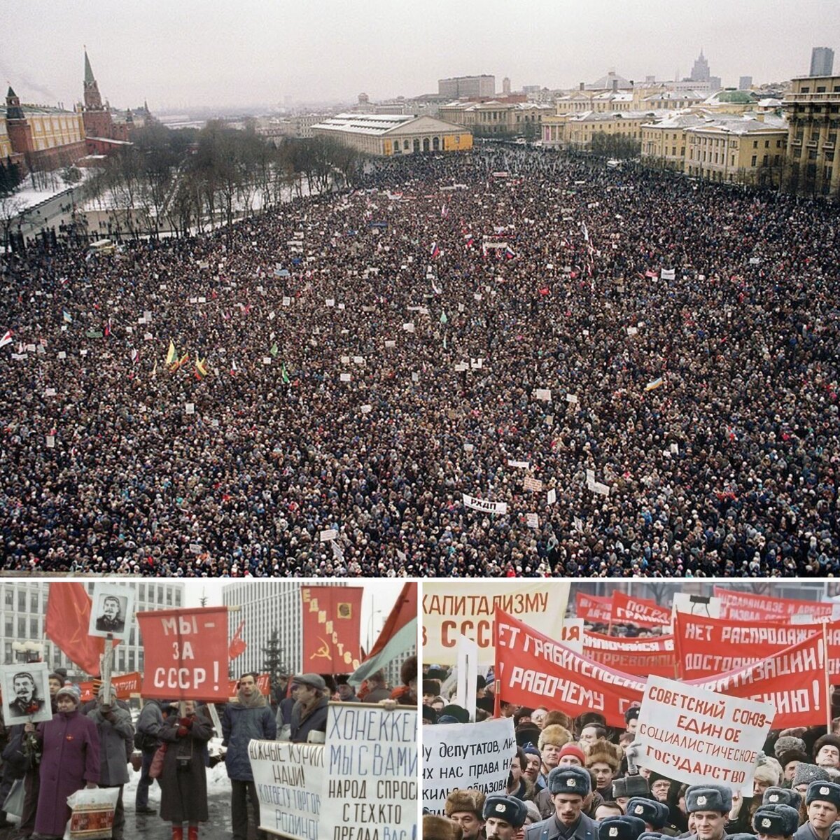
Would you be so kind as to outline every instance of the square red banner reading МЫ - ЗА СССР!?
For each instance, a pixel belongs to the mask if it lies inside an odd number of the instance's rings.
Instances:
[[[138,612],[143,637],[144,697],[225,702],[228,608]]]

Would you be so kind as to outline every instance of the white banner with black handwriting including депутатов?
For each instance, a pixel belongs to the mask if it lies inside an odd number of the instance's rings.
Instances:
[[[505,795],[516,753],[513,718],[423,728],[423,807],[444,812],[450,790]]]

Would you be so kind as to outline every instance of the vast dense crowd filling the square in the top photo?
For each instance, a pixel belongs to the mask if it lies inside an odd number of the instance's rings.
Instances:
[[[837,571],[837,208],[501,145],[365,185],[0,263],[6,569]]]

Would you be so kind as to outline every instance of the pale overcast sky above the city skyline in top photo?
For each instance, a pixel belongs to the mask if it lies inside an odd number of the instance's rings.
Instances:
[[[411,97],[478,73],[500,90],[671,79],[701,47],[724,86],[781,81],[838,35],[837,0],[27,0],[3,9],[0,71],[24,101],[70,106],[87,44],[103,97],[155,111]]]

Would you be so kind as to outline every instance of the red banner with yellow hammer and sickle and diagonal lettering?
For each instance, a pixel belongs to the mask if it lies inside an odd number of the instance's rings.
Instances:
[[[347,674],[359,667],[360,586],[303,586],[303,670]]]

